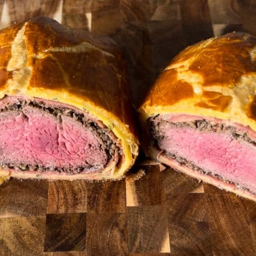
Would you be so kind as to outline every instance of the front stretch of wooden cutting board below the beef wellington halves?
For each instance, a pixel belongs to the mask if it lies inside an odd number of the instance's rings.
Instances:
[[[172,169],[144,169],[137,181],[5,183],[0,255],[255,255],[255,203]]]

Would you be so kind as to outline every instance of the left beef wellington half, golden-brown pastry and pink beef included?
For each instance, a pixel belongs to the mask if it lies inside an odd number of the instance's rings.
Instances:
[[[114,42],[37,17],[1,30],[0,51],[0,176],[122,178],[138,139]]]

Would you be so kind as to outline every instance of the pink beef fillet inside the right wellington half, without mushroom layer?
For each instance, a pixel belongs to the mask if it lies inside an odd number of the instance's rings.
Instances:
[[[162,150],[256,193],[256,147],[252,143],[236,140],[228,131],[174,127],[166,121],[159,125],[159,130],[163,137],[158,146]],[[248,132],[248,128],[245,130]]]

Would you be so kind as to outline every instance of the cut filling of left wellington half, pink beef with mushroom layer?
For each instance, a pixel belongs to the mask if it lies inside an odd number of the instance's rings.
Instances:
[[[11,172],[96,174],[121,160],[114,134],[89,113],[39,98],[0,104],[0,164]]]

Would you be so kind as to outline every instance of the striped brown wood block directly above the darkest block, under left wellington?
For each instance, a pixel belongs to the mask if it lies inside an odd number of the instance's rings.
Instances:
[[[87,183],[82,180],[49,182],[47,213],[86,212]]]

